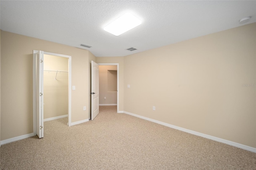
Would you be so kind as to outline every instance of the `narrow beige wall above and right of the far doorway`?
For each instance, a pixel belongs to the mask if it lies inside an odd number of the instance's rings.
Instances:
[[[96,63],[119,63],[119,111],[124,111],[124,57],[96,57]]]

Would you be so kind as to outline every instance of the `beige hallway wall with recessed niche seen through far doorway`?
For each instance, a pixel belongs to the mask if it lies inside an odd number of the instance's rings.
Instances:
[[[100,104],[117,104],[117,65],[99,65]],[[111,71],[116,71],[112,74]],[[114,81],[109,81],[111,77]],[[106,97],[106,99],[104,99]]]

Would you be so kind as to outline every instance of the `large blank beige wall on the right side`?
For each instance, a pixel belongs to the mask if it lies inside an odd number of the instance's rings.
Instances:
[[[255,46],[256,23],[126,56],[124,111],[256,147]]]

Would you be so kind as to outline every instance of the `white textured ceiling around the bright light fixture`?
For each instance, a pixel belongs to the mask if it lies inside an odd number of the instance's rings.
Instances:
[[[126,12],[142,24],[120,36],[103,30]],[[256,22],[256,1],[1,0],[0,15],[4,31],[88,49],[96,57],[125,56],[242,26],[247,16],[246,24]]]

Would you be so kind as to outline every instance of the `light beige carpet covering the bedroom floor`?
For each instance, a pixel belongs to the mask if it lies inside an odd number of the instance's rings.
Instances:
[[[44,123],[37,136],[0,147],[2,170],[256,170],[256,153],[101,106],[93,120]]]

